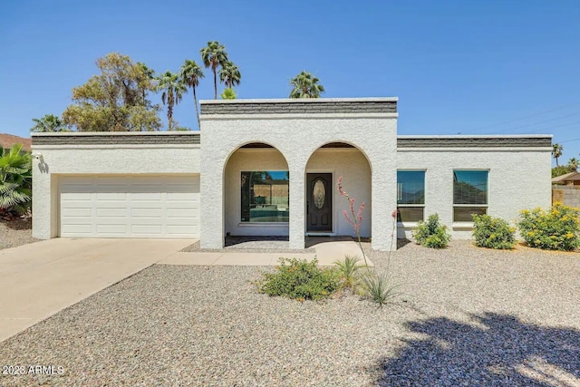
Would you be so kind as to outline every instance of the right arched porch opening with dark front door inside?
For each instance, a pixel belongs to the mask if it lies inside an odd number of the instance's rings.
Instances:
[[[372,166],[362,150],[344,141],[322,145],[314,150],[306,164],[304,232],[307,236],[356,235],[353,225],[343,215],[346,211],[353,218],[349,201],[341,196],[336,186],[340,177],[343,177],[343,190],[355,200],[355,215],[364,203],[361,237],[371,237]]]

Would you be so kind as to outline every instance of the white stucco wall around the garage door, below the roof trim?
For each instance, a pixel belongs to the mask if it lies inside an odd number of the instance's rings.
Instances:
[[[198,145],[34,145],[33,237],[58,231],[58,177],[63,174],[178,174],[200,172]]]

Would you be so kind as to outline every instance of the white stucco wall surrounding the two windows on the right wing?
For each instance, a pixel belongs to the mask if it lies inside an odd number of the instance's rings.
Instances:
[[[457,239],[471,238],[469,225],[453,224],[453,169],[488,169],[488,215],[512,223],[524,208],[547,208],[551,200],[550,148],[463,150],[399,149],[398,169],[424,169],[425,218],[438,213]],[[399,237],[411,237],[398,228]]]

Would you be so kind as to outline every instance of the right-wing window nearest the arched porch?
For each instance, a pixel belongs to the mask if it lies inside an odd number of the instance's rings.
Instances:
[[[397,221],[418,222],[425,210],[425,171],[397,171]]]

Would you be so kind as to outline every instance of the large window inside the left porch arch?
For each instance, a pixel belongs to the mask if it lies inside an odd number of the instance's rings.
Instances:
[[[242,172],[242,222],[287,223],[288,171]]]

